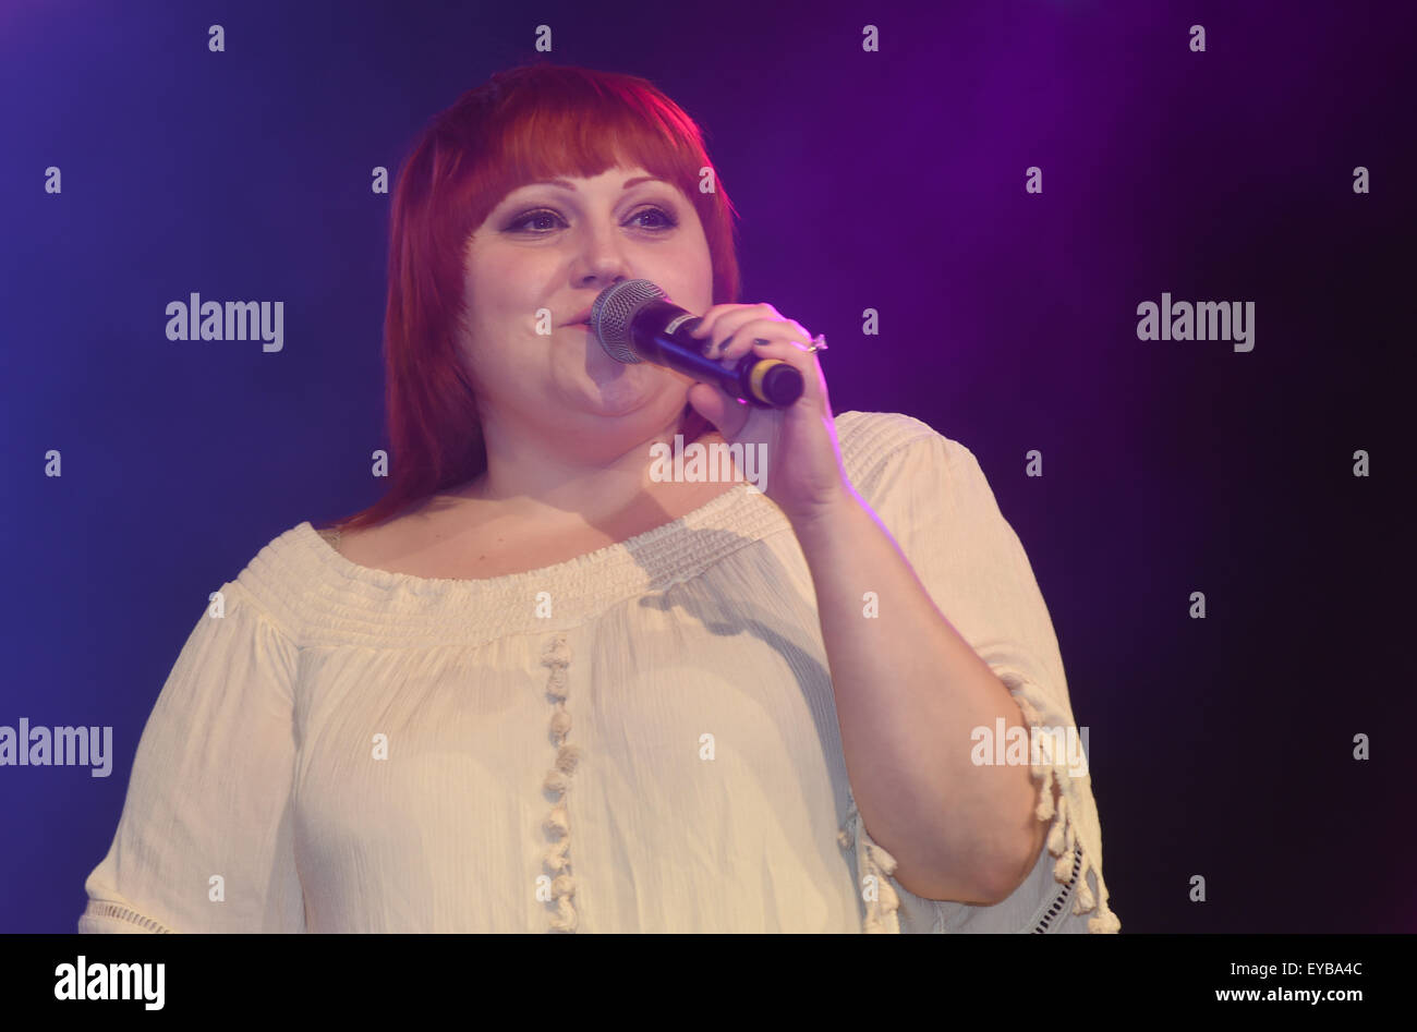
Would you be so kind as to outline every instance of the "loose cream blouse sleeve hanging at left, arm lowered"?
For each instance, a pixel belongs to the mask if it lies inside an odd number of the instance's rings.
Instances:
[[[290,788],[296,649],[239,584],[197,621],[85,882],[79,933],[303,931]]]

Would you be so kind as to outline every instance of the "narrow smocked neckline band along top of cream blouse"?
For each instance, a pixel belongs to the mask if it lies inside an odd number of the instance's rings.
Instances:
[[[521,573],[499,574],[496,577],[419,577],[411,573],[380,570],[373,566],[356,563],[340,553],[319,530],[315,529],[315,525],[309,520],[296,526],[295,532],[296,537],[303,544],[315,550],[315,554],[320,559],[320,561],[334,570],[339,570],[349,580],[374,584],[380,588],[412,588],[419,594],[428,594],[439,590],[496,591],[504,587],[524,584],[530,580],[546,581],[565,576],[585,574],[592,567],[606,563],[622,553],[635,553],[645,546],[652,546],[662,539],[669,537],[676,530],[717,517],[721,509],[727,510],[730,506],[737,503],[740,498],[747,496],[747,488],[748,481],[735,483],[721,495],[708,499],[697,509],[690,509],[683,516],[679,516],[669,523],[660,523],[657,527],[643,530],[632,537],[626,537],[623,542],[612,542],[611,544],[604,544],[594,551],[587,551],[560,563],[553,563],[551,566],[523,570]]]

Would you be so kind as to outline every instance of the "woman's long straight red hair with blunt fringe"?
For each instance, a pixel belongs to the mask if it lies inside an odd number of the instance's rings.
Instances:
[[[384,496],[333,526],[381,523],[486,469],[472,384],[458,354],[465,242],[509,191],[558,176],[638,163],[693,203],[713,259],[713,303],[738,301],[728,196],[713,179],[696,122],[648,79],[565,65],[495,74],[436,115],[398,172],[384,316],[391,476]],[[686,441],[708,430],[684,405]]]

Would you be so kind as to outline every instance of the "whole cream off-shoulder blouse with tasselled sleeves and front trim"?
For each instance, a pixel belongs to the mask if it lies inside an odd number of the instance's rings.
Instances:
[[[972,452],[836,420],[941,611],[1070,726],[1044,602]],[[863,585],[869,590],[869,585]],[[309,523],[221,587],[137,747],[79,931],[1115,931],[1091,780],[990,907],[911,894],[846,778],[791,526],[740,485],[479,581],[356,566]]]

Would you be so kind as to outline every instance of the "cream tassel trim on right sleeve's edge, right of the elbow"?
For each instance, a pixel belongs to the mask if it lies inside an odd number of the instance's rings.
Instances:
[[[1015,683],[1009,683],[1009,682]],[[1046,727],[1037,707],[1029,699],[1032,682],[1007,678],[1005,683],[1024,722],[1030,727]],[[1041,700],[1040,700],[1041,702]],[[1122,921],[1108,906],[1107,883],[1102,880],[1101,856],[1101,828],[1095,817],[1095,805],[1091,800],[1088,775],[1074,775],[1067,770],[1067,757],[1053,756],[1053,740],[1047,734],[1037,736],[1043,763],[1030,765],[1033,780],[1039,783],[1039,804],[1033,814],[1040,821],[1051,821],[1047,838],[1049,855],[1054,856],[1053,880],[1067,886],[1074,879],[1077,890],[1073,899],[1073,913],[1094,916],[1087,923],[1091,933],[1121,931]],[[1053,802],[1053,785],[1058,787],[1057,805]],[[1097,893],[1093,893],[1087,883],[1087,873],[1093,872],[1097,879]]]

